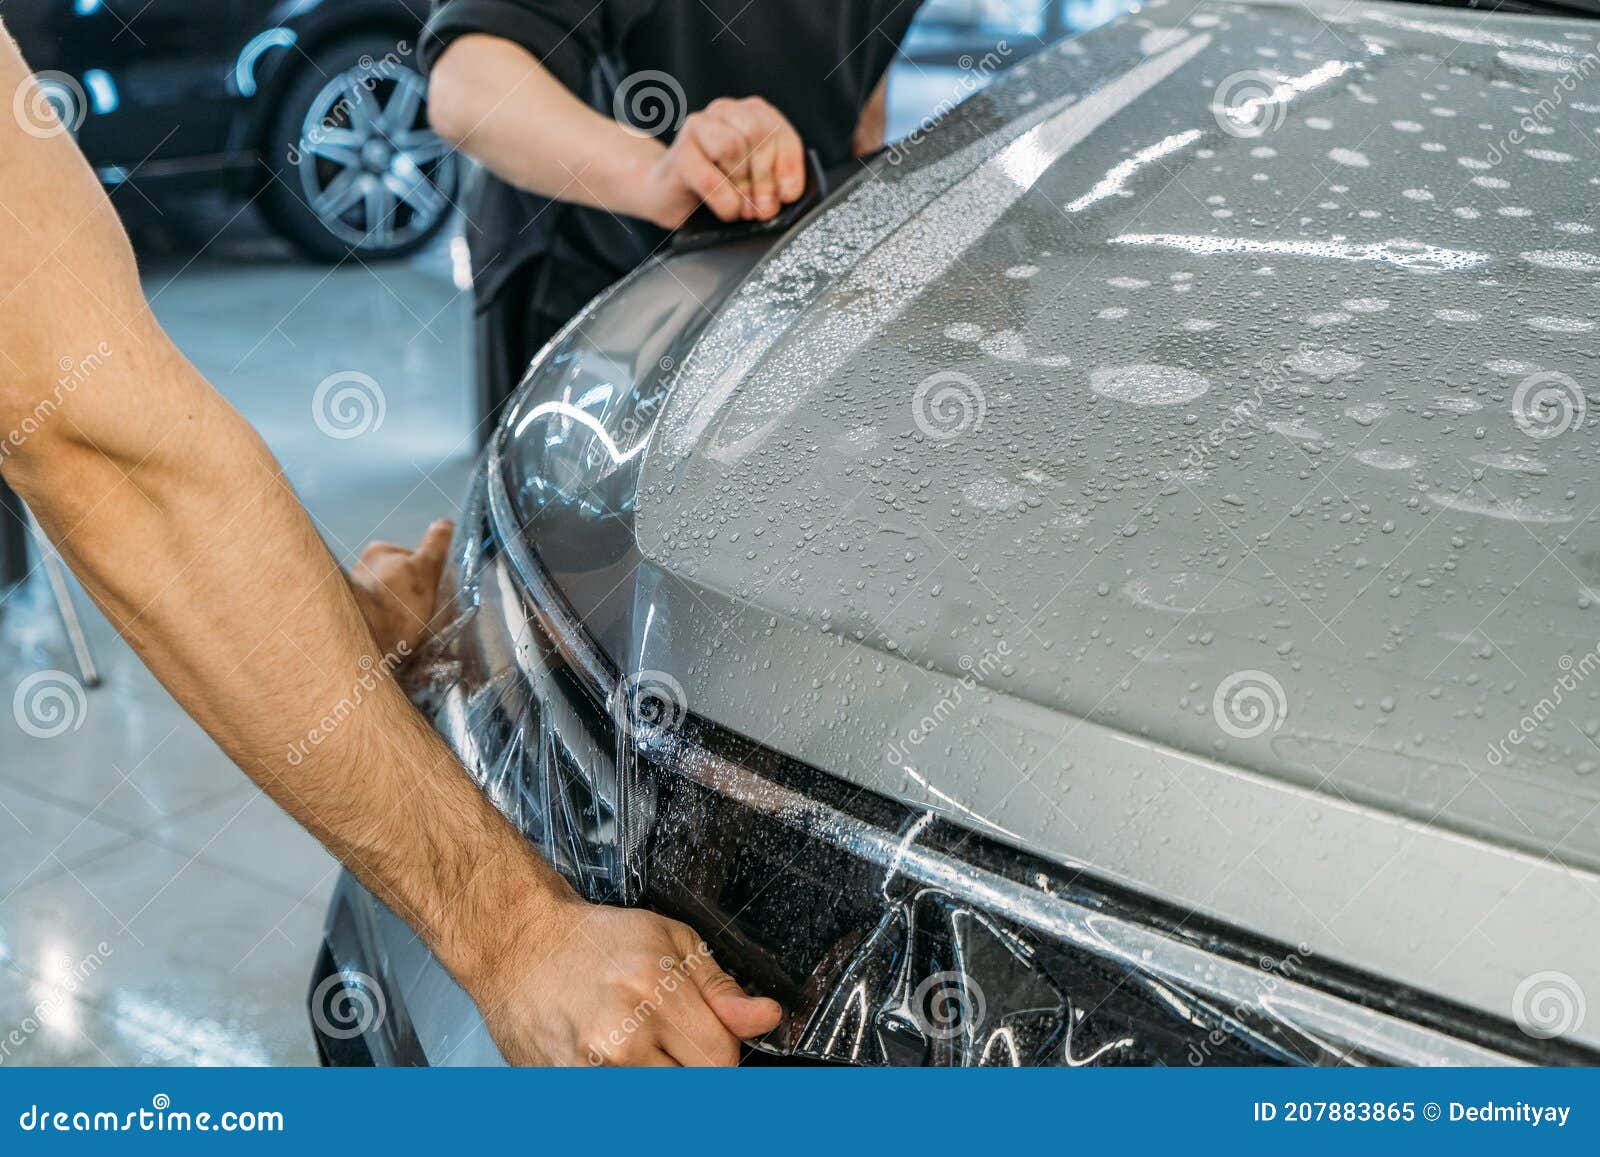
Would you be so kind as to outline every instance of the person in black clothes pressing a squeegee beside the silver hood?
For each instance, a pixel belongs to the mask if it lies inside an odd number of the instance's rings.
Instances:
[[[882,146],[918,3],[435,0],[429,115],[488,170],[467,206],[483,416],[701,205],[765,221],[805,192],[806,149]]]

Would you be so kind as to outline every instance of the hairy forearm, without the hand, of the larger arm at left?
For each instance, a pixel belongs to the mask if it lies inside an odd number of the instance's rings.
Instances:
[[[395,687],[400,656],[376,653],[266,446],[154,325],[133,328],[142,341],[114,346],[6,477],[222,751],[474,975],[493,925],[467,930],[507,875],[525,919],[565,888]]]

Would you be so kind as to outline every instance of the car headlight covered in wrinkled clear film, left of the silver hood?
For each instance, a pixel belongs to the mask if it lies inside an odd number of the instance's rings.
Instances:
[[[590,603],[579,626],[541,552],[584,555],[589,571],[629,566],[638,456],[662,378],[704,322],[709,290],[685,304],[685,283],[726,282],[722,264],[635,270],[534,360],[474,470],[443,626],[406,672],[413,699],[494,807],[594,901],[640,899],[650,807],[629,731],[674,707],[648,682],[619,679],[592,634],[602,613],[621,615]],[[651,296],[651,278],[664,291]],[[624,296],[627,325],[643,336],[613,355],[581,334],[616,331]],[[626,584],[602,586],[626,613]]]

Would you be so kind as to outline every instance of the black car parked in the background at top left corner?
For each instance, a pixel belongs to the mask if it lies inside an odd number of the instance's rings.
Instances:
[[[416,67],[426,16],[427,0],[0,0],[115,200],[219,187],[326,261],[408,253],[450,216],[458,158]],[[13,112],[53,130],[26,94]]]

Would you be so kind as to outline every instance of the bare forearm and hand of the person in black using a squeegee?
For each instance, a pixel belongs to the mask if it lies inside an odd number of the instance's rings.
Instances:
[[[427,107],[440,136],[501,179],[667,229],[702,203],[723,221],[766,219],[805,192],[800,136],[766,101],[712,101],[667,147],[600,115],[499,37],[451,42]]]

